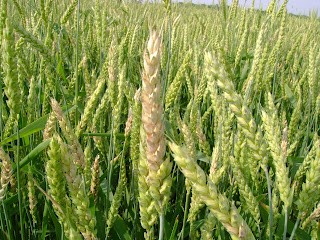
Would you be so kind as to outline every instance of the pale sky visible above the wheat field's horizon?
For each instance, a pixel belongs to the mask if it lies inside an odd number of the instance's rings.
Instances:
[[[182,0],[180,0],[182,1]],[[192,0],[193,3],[205,3],[205,4],[212,4],[218,3],[219,0]],[[229,3],[232,0],[228,0]],[[243,6],[246,2],[246,6],[251,6],[252,0],[239,0],[239,4]],[[263,9],[266,9],[270,0],[255,0],[255,5],[257,8],[262,6]],[[280,1],[281,3],[283,1]],[[289,0],[287,5],[288,12],[294,14],[303,14],[309,15],[310,10],[317,10],[318,16],[320,14],[320,0]]]

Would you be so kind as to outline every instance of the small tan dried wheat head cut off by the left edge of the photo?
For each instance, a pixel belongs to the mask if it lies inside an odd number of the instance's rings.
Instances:
[[[7,186],[12,174],[12,165],[9,155],[0,147],[1,177],[0,177],[0,202],[5,197]]]

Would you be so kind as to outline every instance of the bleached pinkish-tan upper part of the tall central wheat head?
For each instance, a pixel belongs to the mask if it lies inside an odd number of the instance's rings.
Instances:
[[[160,37],[151,32],[144,53],[144,72],[141,90],[142,125],[146,136],[148,167],[157,172],[165,154],[164,125],[162,122],[160,82]]]

